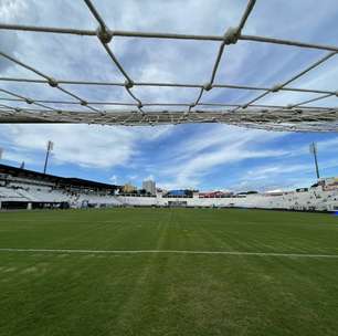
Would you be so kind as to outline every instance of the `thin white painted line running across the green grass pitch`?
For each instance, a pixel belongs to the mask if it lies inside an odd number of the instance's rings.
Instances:
[[[274,253],[274,252],[241,252],[241,251],[184,251],[184,250],[72,250],[72,249],[0,249],[0,252],[43,252],[43,253],[85,253],[85,254],[221,254],[221,255],[256,255],[286,258],[330,258],[338,259],[338,254],[305,254],[305,253]]]

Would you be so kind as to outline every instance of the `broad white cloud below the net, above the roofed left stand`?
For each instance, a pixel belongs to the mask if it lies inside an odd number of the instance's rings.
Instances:
[[[10,144],[9,160],[21,155],[44,153],[46,141],[54,141],[55,164],[73,164],[83,167],[112,168],[126,166],[137,154],[140,140],[154,141],[168,135],[172,128],[131,129],[128,127],[88,125],[1,125],[0,130]],[[18,155],[18,150],[20,154]],[[17,154],[15,154],[17,153]],[[28,159],[32,161],[32,159]]]

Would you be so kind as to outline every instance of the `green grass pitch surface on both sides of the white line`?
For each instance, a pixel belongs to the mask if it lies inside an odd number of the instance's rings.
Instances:
[[[0,249],[338,255],[330,214],[215,209],[0,213]],[[0,252],[0,335],[337,335],[338,259]]]

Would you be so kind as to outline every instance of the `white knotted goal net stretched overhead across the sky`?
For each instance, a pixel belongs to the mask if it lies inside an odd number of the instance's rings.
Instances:
[[[315,88],[297,88],[289,84],[305,76],[319,65],[336,56],[338,46],[321,45],[315,43],[304,43],[299,41],[282,40],[265,38],[260,35],[245,35],[242,33],[243,28],[251,12],[254,10],[255,2],[250,0],[246,9],[235,28],[226,30],[224,35],[197,35],[197,34],[177,34],[177,33],[157,33],[157,32],[138,32],[138,31],[117,31],[110,30],[101,13],[91,0],[84,0],[87,9],[93,14],[93,19],[98,24],[97,30],[80,30],[52,27],[32,27],[22,24],[4,24],[0,23],[1,30],[31,31],[40,33],[54,34],[72,34],[86,35],[97,39],[110,61],[118,69],[124,82],[98,82],[98,81],[70,81],[54,78],[49,74],[35,69],[32,64],[27,64],[23,60],[18,60],[12,55],[0,50],[0,56],[9,62],[34,73],[39,78],[24,77],[0,77],[1,82],[21,82],[25,85],[44,84],[55,91],[61,91],[70,96],[70,101],[61,99],[33,99],[29,96],[18,94],[17,92],[1,88],[0,92],[6,97],[0,98],[0,123],[86,123],[86,124],[104,124],[104,125],[161,125],[161,124],[183,124],[183,123],[225,123],[244,127],[254,127],[274,130],[306,130],[306,132],[337,132],[338,130],[338,108],[336,106],[320,107],[314,106],[316,102],[328,98],[336,98],[337,91],[317,90]],[[213,67],[210,70],[210,80],[208,83],[168,83],[168,82],[136,82],[134,81],[124,65],[115,55],[109,45],[113,36],[122,36],[125,39],[170,39],[170,40],[196,40],[196,41],[214,41],[220,43],[219,51],[215,56]],[[215,83],[215,76],[222,56],[226,54],[226,48],[236,44],[237,41],[249,41],[251,43],[273,43],[282,45],[292,45],[303,50],[320,50],[327,54],[316,62],[302,69],[294,74],[288,81],[277,83],[272,87],[261,87],[251,85],[231,85]],[[198,65],[197,65],[198,66]],[[122,87],[133,99],[133,103],[124,103],[122,101],[114,102],[91,102],[74,94],[70,85],[83,86],[108,86]],[[179,90],[198,90],[199,94],[192,103],[152,103],[145,102],[140,98],[135,87],[168,87]],[[203,95],[215,88],[226,88],[234,91],[256,92],[256,96],[241,104],[226,103],[204,103]],[[314,98],[297,102],[288,105],[264,105],[262,102],[267,95],[275,93],[310,93],[316,94]],[[57,95],[55,95],[57,96]],[[9,104],[10,102],[11,104]],[[13,106],[18,103],[17,106]],[[24,105],[23,105],[24,104]],[[71,108],[56,108],[50,104],[59,106],[70,106]],[[54,106],[53,105],[53,106]],[[326,104],[327,105],[327,104]],[[23,107],[24,106],[24,107]],[[103,108],[114,106],[114,109]],[[87,112],[81,109],[84,107]]]

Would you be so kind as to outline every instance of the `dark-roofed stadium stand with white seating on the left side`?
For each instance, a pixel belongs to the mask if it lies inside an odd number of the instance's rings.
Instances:
[[[0,165],[0,208],[82,208],[120,206],[118,186],[63,178]]]

